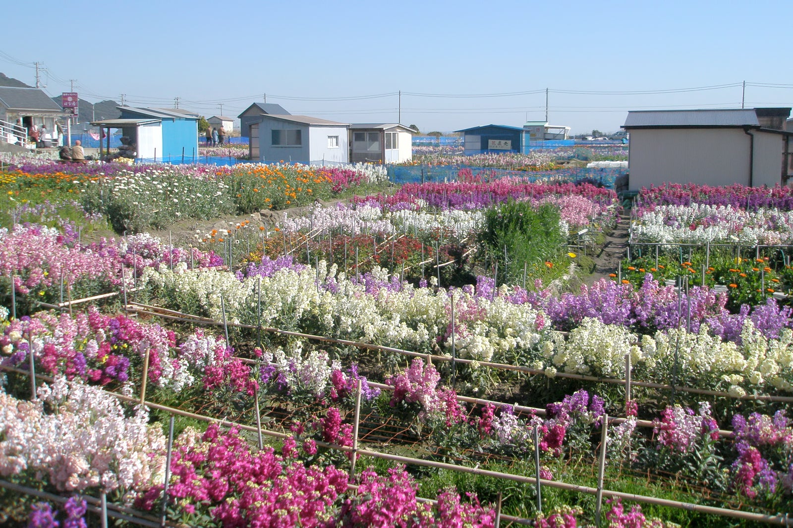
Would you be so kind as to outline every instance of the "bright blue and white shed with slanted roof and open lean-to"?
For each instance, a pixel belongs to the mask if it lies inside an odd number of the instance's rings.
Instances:
[[[136,145],[137,159],[171,161],[198,154],[198,114],[184,109],[119,106],[121,117],[91,124],[121,128]],[[105,131],[109,138],[109,130]]]

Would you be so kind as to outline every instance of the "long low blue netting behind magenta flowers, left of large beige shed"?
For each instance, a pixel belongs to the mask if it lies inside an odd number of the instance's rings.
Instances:
[[[592,178],[603,183],[603,186],[614,187],[614,181],[620,174],[625,174],[624,169],[557,169],[530,172],[526,170],[493,169],[481,166],[462,165],[412,165],[412,166],[387,166],[389,181],[393,183],[422,183],[422,182],[457,182],[458,172],[469,169],[473,176],[482,180],[498,178],[524,178],[530,182],[538,180],[551,182],[576,182],[582,178]]]

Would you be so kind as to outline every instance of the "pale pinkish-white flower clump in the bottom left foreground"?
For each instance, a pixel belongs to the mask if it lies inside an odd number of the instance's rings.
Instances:
[[[44,404],[54,410],[44,412]],[[56,377],[39,399],[0,392],[0,475],[41,475],[60,491],[141,491],[163,481],[165,437],[149,426],[145,407],[125,417],[119,401],[99,388]]]

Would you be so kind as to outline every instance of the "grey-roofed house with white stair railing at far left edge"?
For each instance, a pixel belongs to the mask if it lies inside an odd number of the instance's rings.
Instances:
[[[0,86],[0,121],[4,121],[3,130],[13,134],[5,134],[6,140],[12,137],[14,143],[27,140],[29,132],[36,128],[46,127],[50,140],[59,142],[57,124],[62,117],[71,116],[38,88],[17,88]]]

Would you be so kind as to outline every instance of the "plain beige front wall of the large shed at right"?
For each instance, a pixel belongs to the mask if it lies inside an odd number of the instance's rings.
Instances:
[[[630,190],[664,182],[749,185],[749,136],[742,128],[633,128],[629,160]]]

